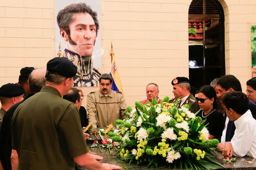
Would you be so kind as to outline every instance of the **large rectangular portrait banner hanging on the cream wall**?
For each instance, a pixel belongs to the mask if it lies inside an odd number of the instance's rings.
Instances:
[[[75,87],[99,86],[100,0],[56,0],[56,54],[77,67]]]

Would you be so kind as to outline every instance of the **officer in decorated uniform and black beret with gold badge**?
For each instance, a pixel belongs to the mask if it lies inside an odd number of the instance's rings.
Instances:
[[[189,79],[186,77],[176,77],[172,80],[172,86],[174,86],[174,99],[170,100],[170,102],[174,102],[179,99],[179,107],[184,104],[189,105],[189,111],[196,113],[199,110],[198,103],[196,98],[190,94],[190,84]]]

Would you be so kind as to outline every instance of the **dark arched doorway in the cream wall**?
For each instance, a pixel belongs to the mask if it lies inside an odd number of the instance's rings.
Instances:
[[[217,0],[193,0],[188,12],[191,86],[225,75],[224,11]]]

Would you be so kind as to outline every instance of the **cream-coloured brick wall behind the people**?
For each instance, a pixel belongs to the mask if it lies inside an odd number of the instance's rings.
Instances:
[[[110,44],[127,103],[146,99],[155,82],[172,97],[171,79],[188,76],[188,8],[191,0],[102,0],[102,73],[110,71]],[[220,0],[225,12],[226,73],[245,90],[250,78],[250,25],[255,0]],[[55,1],[0,1],[0,86],[17,82],[24,66],[45,67],[55,56]],[[83,88],[84,93],[97,88]],[[84,101],[85,104],[85,101]]]

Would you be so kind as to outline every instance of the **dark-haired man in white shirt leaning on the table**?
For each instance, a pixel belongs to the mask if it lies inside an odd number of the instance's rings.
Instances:
[[[224,156],[250,156],[256,158],[256,120],[248,109],[248,99],[242,92],[228,92],[223,99],[229,120],[236,131],[230,142],[218,144]]]

